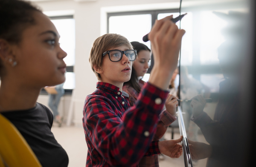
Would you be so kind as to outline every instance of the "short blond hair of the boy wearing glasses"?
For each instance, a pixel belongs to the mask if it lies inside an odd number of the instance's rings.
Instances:
[[[122,45],[126,45],[129,49],[133,49],[127,38],[119,34],[105,34],[93,42],[93,47],[90,51],[89,62],[99,81],[101,81],[100,74],[94,70],[93,66],[96,65],[97,67],[101,67],[103,52],[108,51],[110,48],[119,47]]]

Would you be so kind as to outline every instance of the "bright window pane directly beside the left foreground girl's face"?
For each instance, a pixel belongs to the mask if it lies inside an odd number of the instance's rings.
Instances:
[[[51,20],[60,34],[61,48],[67,52],[64,58],[67,66],[75,65],[75,20],[74,19],[58,19]]]

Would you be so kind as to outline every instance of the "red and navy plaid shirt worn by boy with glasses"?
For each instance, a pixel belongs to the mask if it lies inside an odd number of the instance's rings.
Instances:
[[[138,167],[144,155],[160,154],[158,141],[152,139],[167,95],[146,83],[130,108],[127,93],[98,82],[84,103],[86,167]]]

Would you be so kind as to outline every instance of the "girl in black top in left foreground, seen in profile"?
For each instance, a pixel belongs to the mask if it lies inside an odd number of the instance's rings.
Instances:
[[[0,24],[0,114],[43,167],[67,167],[67,153],[51,132],[52,113],[36,102],[41,88],[65,80],[60,35],[41,10],[22,0],[0,0]]]

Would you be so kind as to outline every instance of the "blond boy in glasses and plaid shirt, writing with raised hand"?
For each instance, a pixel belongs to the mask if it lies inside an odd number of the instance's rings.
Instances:
[[[122,86],[131,77],[136,51],[118,34],[105,34],[93,43],[89,61],[100,82],[96,91],[86,97],[83,110],[87,167],[137,167],[143,156],[163,153],[178,158],[182,154],[182,147],[177,144],[182,136],[152,142],[185,33],[171,18],[157,20],[148,36],[155,65],[131,108]]]

